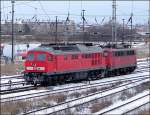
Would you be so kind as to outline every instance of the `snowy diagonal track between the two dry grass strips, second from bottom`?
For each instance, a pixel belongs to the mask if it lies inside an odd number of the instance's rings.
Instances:
[[[137,81],[134,81],[132,83],[137,83],[137,82],[141,82],[141,81],[143,81],[143,80],[137,80]],[[90,95],[87,95],[87,96],[84,96],[84,97],[73,99],[73,100],[70,100],[70,101],[67,101],[67,102],[62,102],[62,103],[59,103],[57,105],[53,105],[53,106],[50,106],[50,107],[44,107],[44,108],[40,108],[38,110],[29,111],[29,112],[26,112],[26,113],[23,113],[23,114],[33,114],[33,113],[36,114],[36,112],[38,113],[38,112],[41,112],[43,110],[44,111],[48,110],[49,113],[47,113],[47,114],[54,114],[54,113],[57,113],[59,111],[63,111],[63,110],[69,109],[69,108],[73,108],[73,107],[76,107],[76,106],[79,106],[79,105],[83,105],[83,104],[89,103],[93,100],[104,98],[104,97],[107,97],[107,96],[110,96],[110,95],[113,95],[113,94],[116,94],[116,93],[119,93],[119,92],[122,92],[122,91],[125,91],[125,90],[128,90],[128,89],[140,86],[141,83],[140,84],[134,84],[134,85],[132,84],[132,86],[130,86],[130,85],[131,85],[131,83],[128,83],[128,84],[125,84],[125,85],[122,85],[122,86],[113,87],[113,88],[110,88],[110,89],[106,89],[104,91],[99,91],[99,92],[96,92],[96,93],[93,93],[93,94],[90,94]],[[122,89],[120,89],[121,87],[122,87]],[[120,90],[119,91],[114,91],[114,92],[109,93],[109,94],[105,94],[105,93],[108,93],[108,91],[111,92],[112,90],[116,90],[117,88],[118,88],[118,90],[119,89]],[[102,95],[102,94],[105,94],[105,95],[104,96],[99,96],[99,95]],[[92,96],[94,96],[94,97],[92,97]],[[97,97],[97,96],[99,96],[99,97]],[[90,101],[87,101],[87,98],[91,98],[91,97],[92,97],[92,99],[90,99]],[[84,102],[83,102],[83,100],[84,100]],[[78,101],[78,103],[77,103],[77,101]],[[76,104],[74,105],[73,103],[75,103],[75,102],[76,102]],[[58,110],[52,111],[54,109],[55,110],[58,109]]]

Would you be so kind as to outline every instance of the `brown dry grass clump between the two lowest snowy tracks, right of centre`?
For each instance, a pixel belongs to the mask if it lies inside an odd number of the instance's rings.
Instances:
[[[98,111],[100,111],[101,109],[110,106],[111,104],[112,104],[111,101],[105,101],[105,100],[102,100],[102,101],[100,101],[100,102],[96,102],[96,103],[94,103],[94,104],[90,107],[91,113],[98,112]]]

